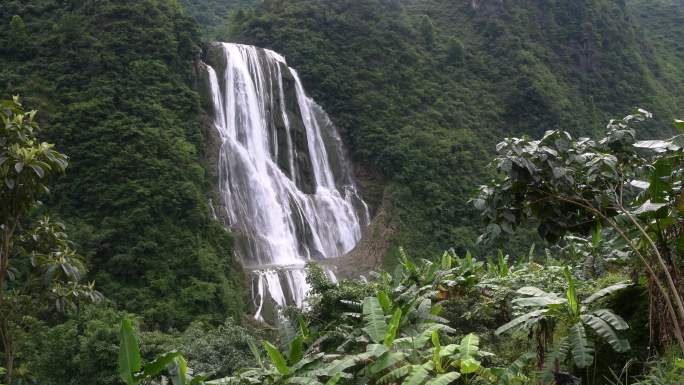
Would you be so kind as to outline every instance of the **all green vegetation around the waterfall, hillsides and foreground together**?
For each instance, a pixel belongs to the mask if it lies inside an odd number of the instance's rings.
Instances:
[[[0,106],[0,375],[684,382],[682,137],[639,141],[682,129],[683,22],[679,0],[1,2],[0,99],[40,113]],[[277,331],[247,322],[208,203],[214,39],[287,57],[398,230],[387,272],[309,266]]]

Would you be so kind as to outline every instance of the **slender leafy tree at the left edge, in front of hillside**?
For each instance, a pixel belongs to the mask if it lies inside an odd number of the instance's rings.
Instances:
[[[66,155],[37,139],[35,116],[24,111],[18,96],[0,100],[0,339],[8,384],[15,371],[15,335],[27,318],[102,298],[93,283],[80,282],[85,263],[64,225],[33,215],[49,191],[49,177],[67,167]]]

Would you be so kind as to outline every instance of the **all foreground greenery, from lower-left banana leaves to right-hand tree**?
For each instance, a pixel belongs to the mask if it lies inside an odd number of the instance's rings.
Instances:
[[[649,116],[612,121],[596,141],[549,131],[499,143],[497,178],[475,200],[485,237],[525,219],[558,229],[545,233],[553,246],[543,264],[533,250],[516,262],[501,251],[483,262],[453,250],[413,262],[402,250],[393,274],[339,284],[310,265],[310,306],[283,313],[279,343],[263,341],[263,352],[249,343],[253,367],[207,383],[681,382],[683,290],[673,272],[683,264],[684,134],[637,141],[637,123]],[[675,126],[684,130],[684,121]],[[667,349],[674,355],[630,371]],[[165,370],[174,384],[205,380],[188,374],[178,352],[143,366],[138,350],[124,321],[119,370],[129,385]]]

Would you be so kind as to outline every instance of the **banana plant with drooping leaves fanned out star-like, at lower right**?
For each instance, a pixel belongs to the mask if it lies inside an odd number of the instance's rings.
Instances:
[[[627,323],[610,309],[590,309],[599,299],[624,289],[629,284],[619,283],[606,287],[580,302],[575,292],[574,280],[567,268],[564,275],[567,280],[565,296],[531,286],[519,289],[519,297],[512,303],[525,313],[499,327],[496,334],[532,330],[539,345],[538,363],[541,365],[546,361],[547,370],[557,371],[559,364],[568,355],[578,368],[591,365],[594,361],[594,338],[607,343],[616,352],[629,350],[629,342],[620,335],[620,332],[629,328]],[[553,330],[558,325],[565,328],[565,336],[547,359],[547,344],[552,341],[545,339],[553,338]]]

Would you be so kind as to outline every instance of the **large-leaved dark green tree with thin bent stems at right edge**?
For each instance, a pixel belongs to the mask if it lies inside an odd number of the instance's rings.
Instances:
[[[651,117],[638,110],[611,120],[600,140],[548,131],[540,140],[508,138],[497,146],[498,178],[474,200],[488,222],[485,239],[532,223],[555,241],[567,234],[598,238],[601,228],[628,251],[651,286],[651,325],[672,336],[684,352],[684,296],[676,273],[684,234],[684,135],[636,138],[636,125]],[[684,121],[675,127],[684,130]]]

